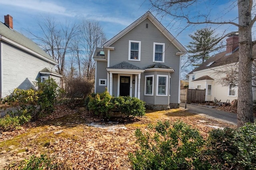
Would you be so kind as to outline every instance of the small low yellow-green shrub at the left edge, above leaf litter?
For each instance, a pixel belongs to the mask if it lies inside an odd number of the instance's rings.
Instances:
[[[19,129],[21,125],[30,121],[30,119],[31,119],[30,115],[28,116],[20,115],[15,117],[6,115],[5,117],[0,119],[0,130],[10,131],[10,130]]]

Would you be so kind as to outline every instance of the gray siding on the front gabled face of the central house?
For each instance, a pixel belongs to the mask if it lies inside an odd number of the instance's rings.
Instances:
[[[145,27],[148,23],[148,29]],[[141,41],[141,55],[140,61],[129,61],[129,40]],[[114,47],[114,51],[110,51],[110,66],[126,61],[130,64],[134,64],[140,68],[144,68],[153,64],[153,47],[154,42],[165,43],[165,56],[164,65],[169,66],[175,70],[171,74],[172,81],[172,96],[170,96],[171,103],[179,103],[178,101],[178,91],[179,91],[179,67],[180,67],[180,56],[176,55],[180,52],[155,26],[154,24],[146,19],[142,23],[138,24],[134,29],[126,33],[123,37],[118,39],[115,43],[111,45]],[[141,74],[140,81],[140,99],[145,102],[152,102],[148,97],[144,96],[144,74]],[[134,89],[133,89],[134,90]],[[167,104],[167,99],[160,97],[157,99],[156,104]]]

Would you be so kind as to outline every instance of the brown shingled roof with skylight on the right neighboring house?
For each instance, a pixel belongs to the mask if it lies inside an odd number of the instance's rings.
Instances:
[[[239,57],[239,49],[234,51],[234,53],[232,53],[232,54],[227,54],[226,51],[224,51],[222,53],[218,53],[216,55],[213,55],[209,59],[207,59],[204,63],[202,63],[200,66],[198,66],[197,68],[195,68],[188,74],[193,74],[196,71],[200,71],[200,70],[204,70],[204,69],[208,69],[208,68],[213,68],[213,67],[222,66],[222,65],[226,65],[226,64],[236,63],[236,62],[238,62],[238,57]],[[212,63],[212,64],[210,64],[210,63]]]

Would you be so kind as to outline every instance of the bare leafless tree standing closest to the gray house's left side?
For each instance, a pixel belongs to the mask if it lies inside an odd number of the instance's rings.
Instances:
[[[106,42],[106,37],[98,21],[83,20],[79,27],[80,44],[84,55],[84,71],[88,80],[94,76],[95,62],[92,59],[96,47]]]

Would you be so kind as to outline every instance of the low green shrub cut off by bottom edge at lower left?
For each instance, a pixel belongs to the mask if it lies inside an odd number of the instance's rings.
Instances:
[[[58,170],[58,164],[52,163],[52,159],[41,154],[40,157],[31,156],[28,160],[10,164],[6,170]]]

